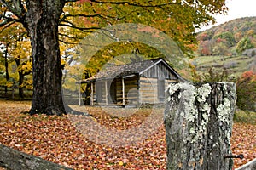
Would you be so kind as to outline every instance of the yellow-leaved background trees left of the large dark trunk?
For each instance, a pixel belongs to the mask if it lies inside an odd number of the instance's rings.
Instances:
[[[0,55],[2,54],[4,58],[2,65],[5,70],[5,80],[0,81],[0,85],[5,87],[17,85],[19,97],[23,98],[23,88],[31,85],[25,76],[32,71],[32,63],[29,60],[31,47],[24,27],[20,23],[14,23],[3,29],[0,46],[2,46]],[[16,68],[15,71],[14,68]],[[7,88],[5,89],[7,94]]]

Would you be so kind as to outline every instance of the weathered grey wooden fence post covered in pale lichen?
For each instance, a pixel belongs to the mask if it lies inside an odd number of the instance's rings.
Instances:
[[[171,84],[166,89],[167,169],[232,169],[230,136],[236,105],[231,82]]]

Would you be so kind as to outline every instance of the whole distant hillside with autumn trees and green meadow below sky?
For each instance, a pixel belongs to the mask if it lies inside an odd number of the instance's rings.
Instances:
[[[197,57],[191,64],[199,72],[211,68],[230,77],[242,72],[256,71],[256,17],[231,20],[222,25],[199,32]]]

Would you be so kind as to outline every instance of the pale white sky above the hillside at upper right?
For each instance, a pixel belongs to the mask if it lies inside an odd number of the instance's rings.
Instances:
[[[212,26],[218,26],[229,20],[247,16],[256,16],[256,0],[226,0],[226,5],[229,8],[228,14],[214,15],[217,19],[217,23],[215,25],[204,27],[202,30]]]

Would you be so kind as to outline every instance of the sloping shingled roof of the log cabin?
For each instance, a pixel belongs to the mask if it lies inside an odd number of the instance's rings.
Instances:
[[[132,77],[137,75],[142,75],[143,72],[148,71],[148,69],[154,67],[155,65],[158,65],[160,62],[162,62],[169,71],[172,71],[174,75],[177,76],[178,79],[183,79],[179,74],[177,74],[177,71],[172,69],[170,65],[166,63],[165,59],[157,58],[157,59],[148,59],[143,60],[135,63],[130,63],[127,65],[116,65],[116,66],[110,66],[103,71],[99,71],[94,77],[90,77],[88,79],[82,80],[80,83],[86,83],[86,82],[94,82],[96,80],[101,79],[109,79],[113,77]]]

